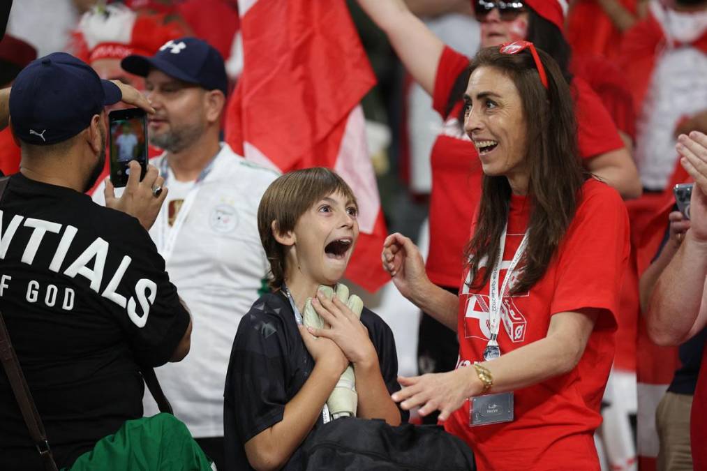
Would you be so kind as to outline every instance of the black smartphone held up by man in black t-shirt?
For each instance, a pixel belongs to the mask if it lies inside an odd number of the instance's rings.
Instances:
[[[147,117],[140,108],[108,113],[110,129],[110,181],[114,187],[127,185],[128,163],[140,164],[140,180],[147,171]]]

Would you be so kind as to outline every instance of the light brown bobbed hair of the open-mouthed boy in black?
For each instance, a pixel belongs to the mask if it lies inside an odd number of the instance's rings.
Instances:
[[[270,184],[258,206],[258,232],[265,255],[270,262],[272,289],[280,289],[285,281],[285,247],[275,239],[272,229],[276,221],[278,232],[293,231],[297,221],[320,199],[332,193],[342,194],[356,204],[351,187],[333,170],[324,167],[295,170]]]

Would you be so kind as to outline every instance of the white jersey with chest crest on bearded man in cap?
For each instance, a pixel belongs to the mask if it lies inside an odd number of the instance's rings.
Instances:
[[[175,185],[170,172],[165,183],[172,201],[197,191],[167,260],[170,279],[192,312],[193,331],[187,357],[156,368],[156,373],[175,416],[195,437],[223,436],[223,386],[233,338],[240,318],[259,297],[269,269],[257,230],[257,208],[278,176],[222,145],[204,180]],[[150,163],[160,168],[162,159]],[[104,204],[102,186],[93,199]],[[150,230],[160,253],[165,246],[160,228],[168,226],[167,211],[165,204]],[[147,391],[144,405],[145,415],[158,412]]]

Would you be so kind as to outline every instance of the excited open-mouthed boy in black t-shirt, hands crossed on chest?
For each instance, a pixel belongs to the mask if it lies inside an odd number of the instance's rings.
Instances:
[[[233,342],[223,417],[228,470],[303,469],[300,446],[329,421],[325,403],[349,364],[358,417],[407,419],[390,398],[400,389],[390,327],[366,308],[358,320],[336,296],[318,292],[344,275],[357,211],[349,185],[326,168],[282,175],[261,199],[258,230],[274,293],[255,301]],[[301,325],[307,298],[330,328]]]

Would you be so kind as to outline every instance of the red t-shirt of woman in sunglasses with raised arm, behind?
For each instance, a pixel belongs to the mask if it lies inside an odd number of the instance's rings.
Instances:
[[[450,47],[437,66],[433,107],[445,124],[431,152],[430,251],[427,275],[433,283],[458,286],[462,277],[464,245],[469,241],[472,216],[481,197],[481,165],[472,141],[461,130],[456,103],[445,115],[452,87],[469,66],[469,59]],[[599,97],[581,79],[573,80],[580,156],[591,158],[621,149],[623,141]]]

